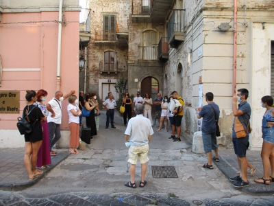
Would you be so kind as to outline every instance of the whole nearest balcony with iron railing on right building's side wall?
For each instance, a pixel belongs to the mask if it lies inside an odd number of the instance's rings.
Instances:
[[[171,48],[184,41],[184,10],[174,10],[168,23],[168,41]]]

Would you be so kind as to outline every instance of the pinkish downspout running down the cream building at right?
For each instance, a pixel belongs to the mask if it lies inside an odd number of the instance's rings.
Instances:
[[[234,0],[234,49],[233,49],[233,95],[236,93],[237,62],[237,0]]]

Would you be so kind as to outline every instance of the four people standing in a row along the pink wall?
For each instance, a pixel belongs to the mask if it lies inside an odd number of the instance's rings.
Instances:
[[[23,109],[23,118],[32,126],[32,133],[25,134],[25,156],[24,163],[29,174],[29,180],[43,174],[41,170],[51,164],[51,156],[57,152],[53,151],[54,144],[60,139],[60,124],[62,121],[62,101],[69,98],[69,126],[71,128],[71,140],[69,152],[78,152],[79,127],[77,135],[77,124],[79,125],[79,115],[81,111],[75,105],[77,100],[73,95],[75,91],[63,96],[61,91],[55,93],[55,98],[45,104],[47,91],[40,89],[37,93],[34,90],[27,90],[25,98],[27,106]],[[77,118],[72,119],[70,112]],[[75,123],[76,125],[74,125]],[[74,132],[74,133],[73,133]],[[78,138],[78,139],[77,139]]]

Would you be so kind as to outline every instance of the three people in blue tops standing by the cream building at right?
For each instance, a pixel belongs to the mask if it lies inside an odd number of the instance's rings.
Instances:
[[[247,167],[250,168],[253,175],[256,168],[247,161],[247,149],[249,148],[249,133],[251,133],[249,119],[251,116],[251,106],[247,102],[249,91],[247,89],[238,89],[237,94],[232,98],[232,110],[234,122],[232,125],[232,142],[234,152],[237,155],[238,166],[240,171],[238,175],[230,178],[235,182],[234,187],[247,187],[249,181],[247,179]],[[213,169],[212,150],[214,150],[213,160],[219,162],[218,145],[216,141],[216,128],[219,121],[219,106],[213,102],[214,95],[211,92],[206,93],[206,102],[208,105],[198,108],[198,118],[203,117],[201,127],[203,148],[208,157],[208,163],[203,168]],[[238,105],[237,105],[238,102]],[[269,185],[274,181],[274,110],[273,98],[269,95],[262,97],[261,106],[266,108],[262,117],[262,165],[264,168],[264,176],[254,179],[256,183]],[[270,174],[271,171],[271,174]]]

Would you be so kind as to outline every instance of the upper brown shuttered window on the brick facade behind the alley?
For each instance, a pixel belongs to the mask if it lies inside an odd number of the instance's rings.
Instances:
[[[116,41],[116,16],[103,16],[103,41]]]

